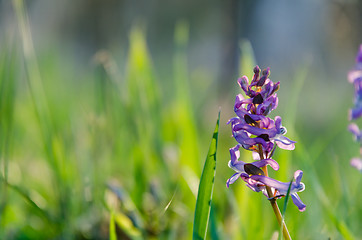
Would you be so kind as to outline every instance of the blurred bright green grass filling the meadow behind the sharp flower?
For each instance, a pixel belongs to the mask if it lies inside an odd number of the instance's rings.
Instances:
[[[158,77],[139,24],[129,35],[126,64],[100,51],[92,71],[82,72],[56,50],[38,55],[22,2],[13,3],[19,35],[0,49],[0,238],[190,239],[219,106],[210,94],[216,83],[196,89],[190,81],[187,23],[175,28],[167,80]],[[255,60],[250,45],[241,46],[246,72]],[[350,101],[331,109],[325,125],[313,126],[296,107],[307,94],[303,86],[315,81],[309,71],[307,63],[296,76],[284,76],[296,83],[291,91],[281,79],[279,92],[291,101],[275,113],[298,142],[293,152],[276,152],[277,176],[287,182],[302,169],[306,184],[300,194],[306,211],[289,203],[285,221],[294,239],[358,239],[361,175],[349,166],[358,154],[346,130]],[[237,90],[236,79],[230,87]],[[233,94],[222,96],[229,109],[220,120],[207,238],[271,239],[279,228],[264,196],[241,182],[225,187],[232,174],[228,148],[235,145],[225,126]],[[212,113],[197,111],[195,102]],[[247,152],[242,157],[251,159]]]

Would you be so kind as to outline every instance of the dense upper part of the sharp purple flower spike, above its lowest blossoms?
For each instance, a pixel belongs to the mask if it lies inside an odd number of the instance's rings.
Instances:
[[[266,154],[273,150],[274,144],[287,150],[295,148],[295,141],[284,136],[287,131],[281,125],[281,117],[274,120],[267,117],[278,106],[276,92],[280,86],[280,82],[273,83],[268,78],[269,74],[269,68],[261,73],[256,66],[251,82],[246,76],[238,79],[246,97],[242,94],[236,96],[234,112],[237,117],[228,121],[233,137],[243,148],[258,152],[258,146],[261,146]]]

